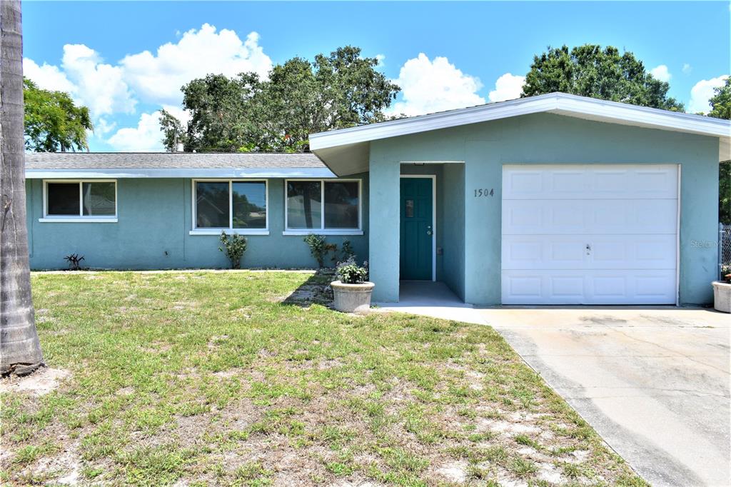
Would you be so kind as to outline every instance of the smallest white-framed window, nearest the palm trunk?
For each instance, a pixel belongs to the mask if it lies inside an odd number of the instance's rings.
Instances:
[[[117,217],[117,181],[43,181],[45,219],[107,220]]]

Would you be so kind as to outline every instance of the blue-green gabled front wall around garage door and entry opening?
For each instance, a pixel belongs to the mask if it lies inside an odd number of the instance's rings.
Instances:
[[[500,303],[502,166],[596,163],[681,165],[680,301],[709,303],[716,248],[694,243],[717,238],[718,153],[715,137],[548,113],[376,140],[369,156],[371,214],[379,222],[370,237],[374,299],[398,301],[400,162],[461,161],[466,302]],[[477,188],[494,196],[473,197]]]

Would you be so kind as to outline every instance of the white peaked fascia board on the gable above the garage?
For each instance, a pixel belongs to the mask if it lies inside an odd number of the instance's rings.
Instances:
[[[552,93],[538,97],[518,98],[507,102],[450,110],[443,113],[433,113],[431,115],[402,118],[364,125],[363,127],[319,132],[310,135],[310,148],[317,151],[322,148],[344,146],[346,144],[368,142],[369,140],[398,137],[399,135],[409,135],[428,130],[445,129],[540,112],[591,118],[616,124],[639,125],[711,135],[713,137],[728,137],[731,135],[731,122],[719,118],[676,113],[571,94]]]

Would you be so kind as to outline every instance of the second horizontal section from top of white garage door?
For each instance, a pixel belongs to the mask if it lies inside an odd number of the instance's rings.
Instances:
[[[504,200],[503,235],[675,235],[678,200]]]

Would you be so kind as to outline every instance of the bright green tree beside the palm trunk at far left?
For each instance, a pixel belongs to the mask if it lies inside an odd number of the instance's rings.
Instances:
[[[38,88],[23,79],[26,149],[34,152],[88,150],[92,130],[87,107],[77,107],[69,94]]]

